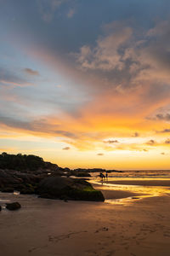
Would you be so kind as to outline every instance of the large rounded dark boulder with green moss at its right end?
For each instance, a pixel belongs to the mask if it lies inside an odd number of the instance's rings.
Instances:
[[[90,183],[71,177],[44,178],[39,183],[37,194],[50,199],[105,201],[103,194]]]

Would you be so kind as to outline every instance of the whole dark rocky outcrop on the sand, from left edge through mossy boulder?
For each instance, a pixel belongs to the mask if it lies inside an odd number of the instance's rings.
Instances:
[[[63,175],[67,176],[68,172],[70,170],[65,172],[61,169],[59,172],[37,170],[33,173],[0,170],[0,191],[16,190],[20,191],[20,194],[37,194],[51,199],[105,201],[102,193],[95,190],[87,181],[81,178],[63,177]],[[80,172],[80,177],[87,177],[87,175],[88,173]]]

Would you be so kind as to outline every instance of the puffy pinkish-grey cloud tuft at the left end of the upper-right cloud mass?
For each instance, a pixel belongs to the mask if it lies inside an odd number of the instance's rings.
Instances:
[[[76,54],[77,62],[84,69],[111,71],[122,70],[124,61],[118,50],[127,43],[132,36],[132,28],[121,26],[118,22],[110,24],[111,29],[106,37],[98,38],[96,46],[82,46]]]

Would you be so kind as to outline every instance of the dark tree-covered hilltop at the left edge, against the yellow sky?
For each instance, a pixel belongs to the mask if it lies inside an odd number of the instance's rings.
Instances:
[[[47,167],[47,163],[37,155],[33,154],[0,154],[0,169],[18,171],[36,171],[39,168]]]

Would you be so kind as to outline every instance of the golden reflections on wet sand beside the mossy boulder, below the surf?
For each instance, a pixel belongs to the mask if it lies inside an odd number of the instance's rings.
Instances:
[[[99,178],[91,180],[94,187],[105,195],[105,202],[111,204],[130,204],[147,197],[169,196],[170,179],[111,177],[107,181]]]

